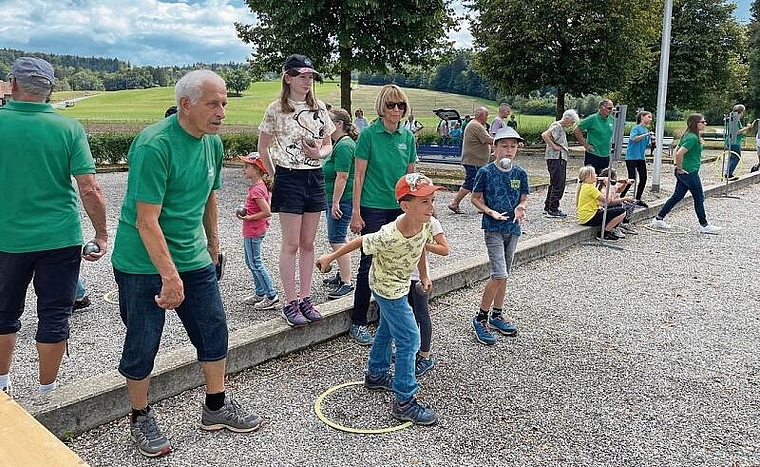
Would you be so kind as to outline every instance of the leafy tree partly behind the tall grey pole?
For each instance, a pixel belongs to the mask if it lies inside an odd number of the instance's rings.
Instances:
[[[661,6],[660,6],[661,8]],[[746,35],[726,0],[674,0],[668,72],[669,109],[725,113],[744,94]],[[660,13],[660,18],[662,13]],[[662,22],[662,19],[660,19]],[[624,90],[631,106],[654,108],[659,78],[662,28],[650,38],[647,65]],[[711,123],[716,120],[709,118]],[[720,121],[720,118],[718,118]]]

